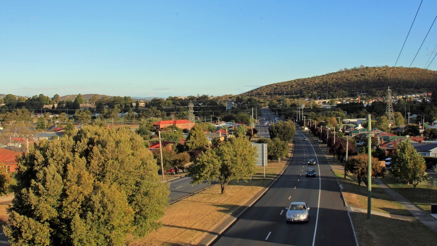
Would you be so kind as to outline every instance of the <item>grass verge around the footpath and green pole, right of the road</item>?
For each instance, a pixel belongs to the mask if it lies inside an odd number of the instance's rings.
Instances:
[[[342,166],[334,165],[333,167],[339,183],[343,186],[343,196],[347,205],[367,209],[367,186],[364,184],[358,186],[350,174],[344,177]],[[382,180],[412,202],[423,201],[427,192],[427,189],[413,190],[411,185],[396,185],[396,180],[390,175]],[[432,191],[436,192],[435,189]],[[434,194],[437,195],[437,193]],[[435,245],[437,234],[413,217],[403,205],[394,201],[375,184],[372,184],[372,211],[411,216],[411,220],[397,220],[377,215],[372,215],[371,219],[367,219],[367,214],[350,213],[359,245]]]

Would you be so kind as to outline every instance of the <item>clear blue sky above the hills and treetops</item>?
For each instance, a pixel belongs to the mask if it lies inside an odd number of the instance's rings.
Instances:
[[[394,66],[420,2],[2,1],[0,94],[236,95]],[[410,66],[436,14],[423,0],[396,66]],[[436,45],[437,23],[411,66]]]

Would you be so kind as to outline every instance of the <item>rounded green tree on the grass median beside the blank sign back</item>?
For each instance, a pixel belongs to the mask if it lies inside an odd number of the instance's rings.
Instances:
[[[193,165],[188,168],[193,184],[203,181],[217,180],[220,182],[222,194],[232,180],[251,179],[256,173],[256,148],[244,137],[232,138],[223,142],[215,149],[209,149],[196,158]]]

